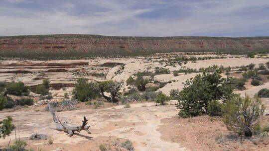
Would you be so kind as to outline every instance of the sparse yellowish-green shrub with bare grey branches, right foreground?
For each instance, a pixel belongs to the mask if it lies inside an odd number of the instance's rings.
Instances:
[[[265,105],[258,96],[236,97],[223,105],[223,122],[228,130],[242,132],[246,137],[251,137],[264,111]]]

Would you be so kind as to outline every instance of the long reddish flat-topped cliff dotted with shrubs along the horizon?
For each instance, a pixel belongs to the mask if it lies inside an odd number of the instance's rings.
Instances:
[[[268,51],[269,37],[119,37],[40,35],[0,37],[1,55],[137,55],[184,51]],[[59,56],[60,56],[59,55]]]

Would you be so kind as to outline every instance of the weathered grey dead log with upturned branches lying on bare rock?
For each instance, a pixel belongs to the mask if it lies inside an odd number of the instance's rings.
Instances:
[[[51,107],[50,103],[48,103],[48,108],[50,113],[52,114],[52,118],[56,126],[55,130],[67,132],[66,135],[70,137],[74,135],[75,131],[80,132],[81,130],[85,130],[86,132],[88,132],[88,134],[91,134],[91,132],[89,131],[90,126],[86,126],[88,124],[88,120],[86,119],[85,116],[83,117],[84,121],[82,121],[82,126],[68,126],[66,121],[62,123],[59,120],[59,117],[58,116],[56,117],[55,111]]]

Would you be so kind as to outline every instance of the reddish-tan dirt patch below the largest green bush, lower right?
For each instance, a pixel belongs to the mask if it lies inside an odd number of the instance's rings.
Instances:
[[[268,121],[269,118],[266,117]],[[228,131],[220,117],[200,116],[192,118],[166,118],[158,127],[161,139],[179,143],[190,151],[268,151],[269,140],[259,141],[258,138],[225,141],[218,144],[215,138],[222,135],[224,140],[234,139],[235,134]]]

